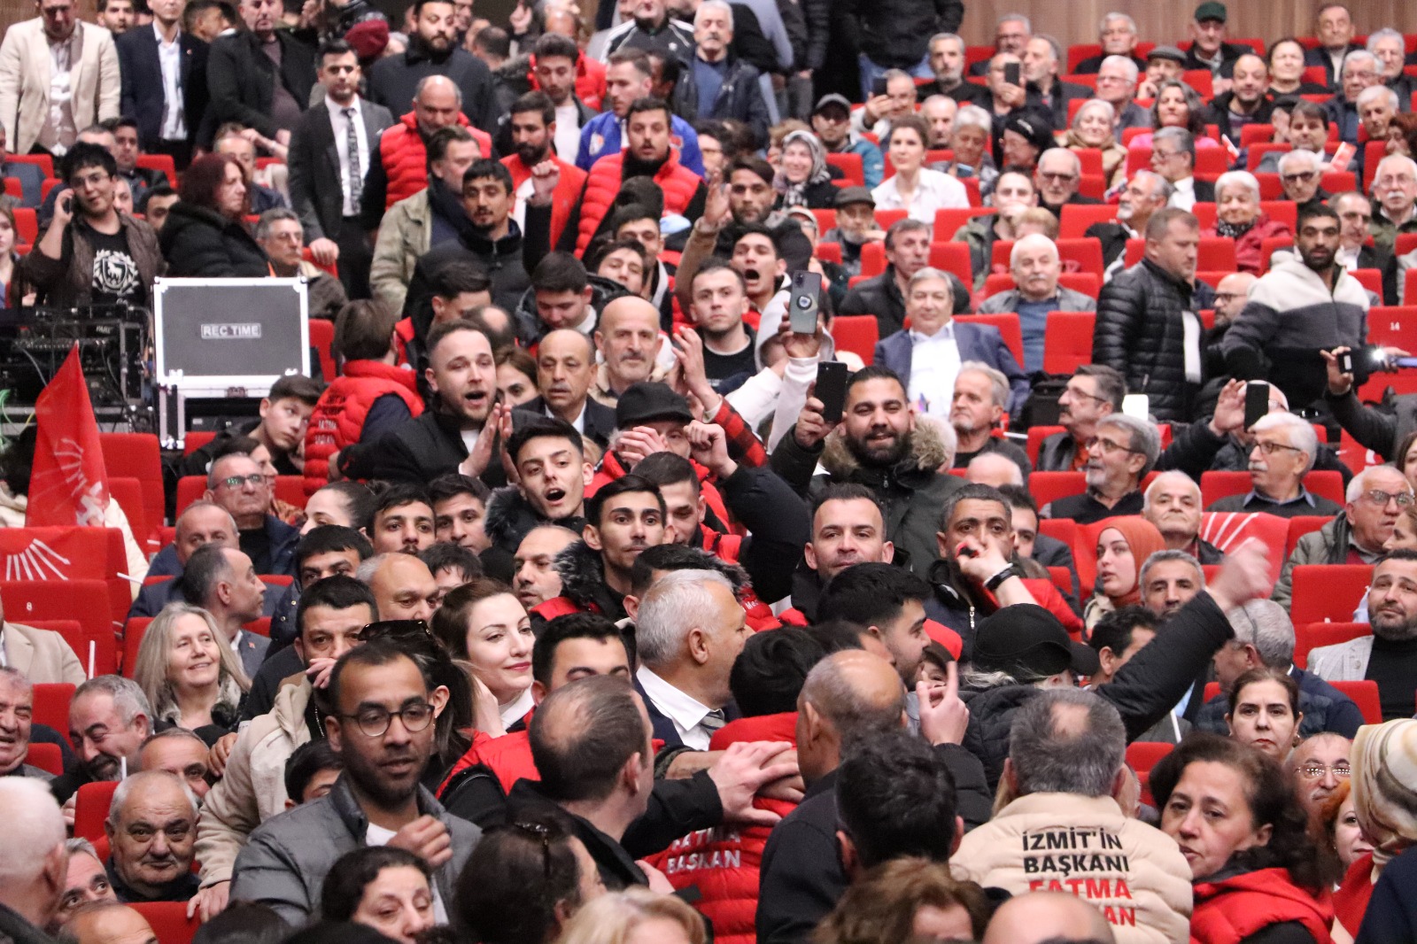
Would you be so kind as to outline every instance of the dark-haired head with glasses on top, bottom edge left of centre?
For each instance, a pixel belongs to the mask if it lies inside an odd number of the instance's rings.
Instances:
[[[585,843],[560,819],[523,814],[482,833],[458,877],[452,920],[480,944],[547,944],[602,894]]]

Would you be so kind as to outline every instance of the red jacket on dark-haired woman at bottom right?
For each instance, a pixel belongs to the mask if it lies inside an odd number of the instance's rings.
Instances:
[[[1316,944],[1332,944],[1333,901],[1315,899],[1289,880],[1287,869],[1257,869],[1220,882],[1197,882],[1190,914],[1195,944],[1240,944],[1251,934],[1299,921]]]

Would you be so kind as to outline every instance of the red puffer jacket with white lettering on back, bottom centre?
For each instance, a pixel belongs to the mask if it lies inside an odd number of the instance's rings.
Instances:
[[[730,721],[713,736],[708,750],[721,751],[737,741],[791,741],[796,746],[796,712]],[[764,797],[752,805],[779,816],[796,808],[796,804]],[[717,944],[755,944],[758,872],[769,832],[768,826],[701,829],[676,841],[649,862],[674,889],[697,886],[703,897],[694,907],[713,921]]]

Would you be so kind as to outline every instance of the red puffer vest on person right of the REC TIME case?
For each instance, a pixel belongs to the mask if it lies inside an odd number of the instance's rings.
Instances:
[[[418,415],[424,411],[414,371],[378,360],[351,360],[310,414],[305,434],[305,493],[315,495],[330,478],[330,456],[359,442],[364,417],[380,397],[394,394]]]

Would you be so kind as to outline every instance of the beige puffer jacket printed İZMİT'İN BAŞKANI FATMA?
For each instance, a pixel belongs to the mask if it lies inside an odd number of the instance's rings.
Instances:
[[[1111,797],[1020,797],[965,833],[949,863],[1013,894],[1071,892],[1102,910],[1118,944],[1190,940],[1186,858]]]

